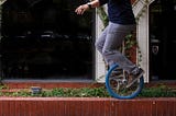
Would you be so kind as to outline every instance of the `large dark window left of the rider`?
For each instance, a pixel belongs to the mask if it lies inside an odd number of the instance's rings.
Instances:
[[[2,5],[4,79],[92,79],[92,11],[82,0],[8,0]]]

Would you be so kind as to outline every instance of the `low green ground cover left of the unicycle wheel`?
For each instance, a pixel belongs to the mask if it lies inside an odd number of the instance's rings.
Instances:
[[[51,90],[43,90],[38,94],[33,94],[29,89],[19,90],[15,92],[2,92],[0,89],[0,96],[41,96],[41,97],[109,97],[105,86],[100,88],[55,88]]]

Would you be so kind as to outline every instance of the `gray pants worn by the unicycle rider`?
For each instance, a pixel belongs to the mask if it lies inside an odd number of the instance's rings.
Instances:
[[[96,40],[96,48],[102,55],[109,67],[118,63],[120,68],[129,73],[136,69],[136,66],[118,50],[124,37],[132,31],[135,31],[135,27],[136,25],[121,25],[110,22]]]

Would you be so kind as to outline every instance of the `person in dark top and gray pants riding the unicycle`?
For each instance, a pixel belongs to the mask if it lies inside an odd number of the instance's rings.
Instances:
[[[132,85],[140,79],[144,70],[129,60],[121,51],[121,47],[125,36],[136,28],[135,18],[132,11],[130,0],[94,0],[76,8],[77,14],[84,14],[85,11],[94,8],[108,4],[108,26],[103,30],[100,37],[96,40],[96,48],[105,58],[109,67],[118,63],[120,68],[125,70],[132,80],[129,85]]]

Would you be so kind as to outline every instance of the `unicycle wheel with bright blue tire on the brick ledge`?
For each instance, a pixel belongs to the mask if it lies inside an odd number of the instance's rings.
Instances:
[[[116,74],[114,71],[117,71]],[[130,77],[124,70],[120,69],[118,65],[112,66],[106,76],[106,88],[109,94],[112,97],[123,100],[139,95],[144,84],[143,76],[130,86],[128,86],[128,80]]]

